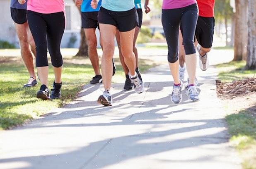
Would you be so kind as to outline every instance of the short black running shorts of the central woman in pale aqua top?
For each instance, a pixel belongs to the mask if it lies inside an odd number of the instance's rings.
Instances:
[[[116,26],[120,32],[127,32],[138,26],[138,13],[135,8],[116,12],[103,7],[99,10],[98,21],[100,24],[110,24]]]

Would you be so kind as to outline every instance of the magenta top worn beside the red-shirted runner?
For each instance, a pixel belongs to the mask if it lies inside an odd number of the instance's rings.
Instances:
[[[178,9],[182,7],[187,7],[189,5],[195,4],[196,0],[163,0],[162,9]]]

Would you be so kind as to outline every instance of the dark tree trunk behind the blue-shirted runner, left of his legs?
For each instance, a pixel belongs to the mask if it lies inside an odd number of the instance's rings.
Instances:
[[[75,0],[73,0],[73,2],[75,3]],[[81,10],[80,10],[80,7],[77,7],[77,9],[79,10],[80,14],[81,14]],[[85,31],[81,28],[81,31],[80,31],[80,37],[81,37],[81,40],[80,40],[80,47],[79,47],[79,50],[77,52],[77,54],[75,56],[85,56],[85,57],[88,57],[88,45],[87,45],[87,40],[86,40],[86,37],[85,37]]]

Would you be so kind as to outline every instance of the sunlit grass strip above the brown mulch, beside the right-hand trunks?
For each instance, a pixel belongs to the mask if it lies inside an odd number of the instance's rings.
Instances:
[[[232,61],[224,64],[217,64],[219,70],[218,78],[222,82],[231,82],[244,78],[256,77],[256,70],[244,70],[245,61]]]

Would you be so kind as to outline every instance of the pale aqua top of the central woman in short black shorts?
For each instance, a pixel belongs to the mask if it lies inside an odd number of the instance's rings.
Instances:
[[[128,11],[135,7],[134,0],[102,0],[101,6],[116,12]]]

